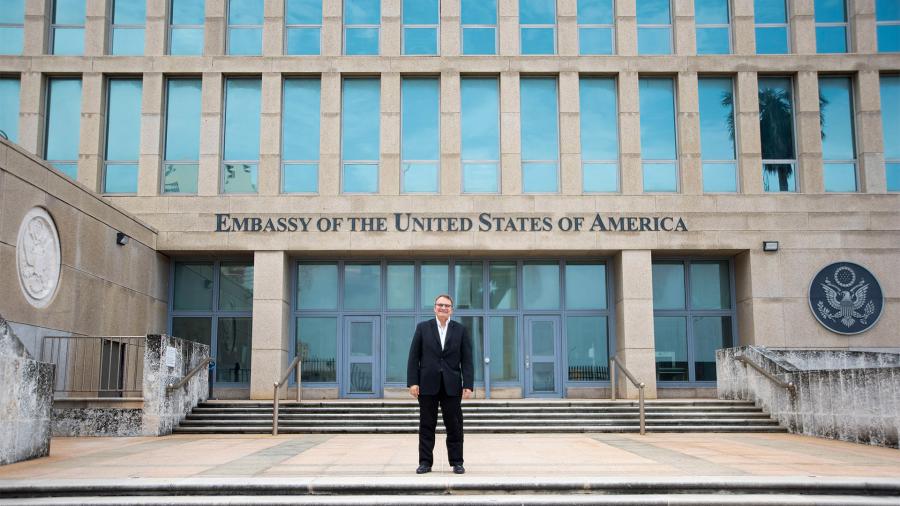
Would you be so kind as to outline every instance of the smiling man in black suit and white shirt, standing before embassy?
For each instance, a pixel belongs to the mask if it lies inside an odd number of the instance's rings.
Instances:
[[[419,467],[416,474],[431,472],[434,462],[434,429],[438,404],[447,429],[447,456],[453,472],[463,474],[462,399],[472,396],[475,371],[472,339],[460,323],[450,321],[453,299],[438,295],[435,318],[416,326],[409,347],[406,385],[419,399]]]

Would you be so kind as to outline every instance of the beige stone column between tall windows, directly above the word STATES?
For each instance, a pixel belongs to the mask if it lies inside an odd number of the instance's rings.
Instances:
[[[500,193],[503,194],[522,193],[520,107],[519,73],[500,73]]]

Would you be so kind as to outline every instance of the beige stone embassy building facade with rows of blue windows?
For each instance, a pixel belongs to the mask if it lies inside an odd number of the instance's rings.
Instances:
[[[73,249],[155,280],[0,312],[207,343],[220,398],[297,355],[305,398],[406,395],[441,293],[479,397],[607,396],[614,355],[662,398],[714,397],[720,348],[900,350],[898,0],[2,0],[0,130],[6,286],[35,206],[60,293]],[[75,246],[63,177],[147,230]]]

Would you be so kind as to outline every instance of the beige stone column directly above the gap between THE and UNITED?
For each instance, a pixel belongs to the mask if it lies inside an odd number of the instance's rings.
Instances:
[[[381,74],[381,164],[379,192],[400,194],[400,74]]]

